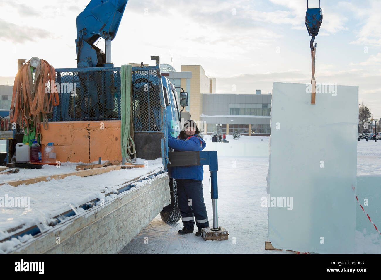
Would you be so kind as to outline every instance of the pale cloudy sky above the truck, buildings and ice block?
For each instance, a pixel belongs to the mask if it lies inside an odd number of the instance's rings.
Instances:
[[[0,0],[0,84],[13,84],[17,59],[76,67],[75,19],[89,2]],[[217,93],[267,94],[273,82],[310,83],[306,8],[306,0],[129,0],[112,62],[152,65],[150,56],[160,55],[177,71],[201,65],[216,78]],[[316,82],[359,86],[359,103],[380,119],[381,1],[323,0],[321,8]],[[103,41],[97,46],[104,50]]]

